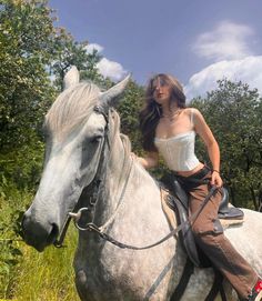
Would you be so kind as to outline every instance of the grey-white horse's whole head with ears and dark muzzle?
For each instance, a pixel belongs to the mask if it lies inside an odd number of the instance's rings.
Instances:
[[[79,83],[77,68],[66,76],[66,89],[46,116],[44,169],[22,221],[24,240],[37,250],[56,241],[82,190],[93,181],[105,141],[109,108],[128,80],[101,92],[93,83]]]

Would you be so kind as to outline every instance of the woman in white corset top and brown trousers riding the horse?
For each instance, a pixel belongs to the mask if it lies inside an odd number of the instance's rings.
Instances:
[[[150,79],[145,107],[140,113],[144,158],[137,160],[145,168],[158,164],[159,153],[168,168],[178,177],[190,195],[191,214],[198,211],[210,185],[222,187],[220,177],[219,146],[199,110],[185,108],[185,96],[179,81],[168,74]],[[194,153],[195,134],[203,140],[212,170],[200,162]],[[210,184],[192,187],[191,180],[209,180]],[[212,263],[223,273],[243,300],[261,300],[262,281],[250,264],[234,250],[223,231],[218,231],[214,221],[221,194],[215,193],[192,224],[196,243]]]

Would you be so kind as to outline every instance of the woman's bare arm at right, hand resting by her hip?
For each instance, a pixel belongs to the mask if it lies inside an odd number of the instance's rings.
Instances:
[[[194,128],[195,132],[201,137],[204,141],[204,144],[208,149],[209,158],[212,163],[213,172],[211,184],[215,184],[221,187],[223,181],[220,177],[220,149],[219,144],[210,130],[209,126],[206,124],[203,116],[200,113],[199,110],[194,109],[193,111],[194,117]]]

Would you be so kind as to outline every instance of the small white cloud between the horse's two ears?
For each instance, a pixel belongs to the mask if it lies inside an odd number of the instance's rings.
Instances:
[[[120,63],[110,61],[105,58],[102,58],[97,67],[103,77],[110,78],[113,81],[119,81],[127,74],[127,71]]]

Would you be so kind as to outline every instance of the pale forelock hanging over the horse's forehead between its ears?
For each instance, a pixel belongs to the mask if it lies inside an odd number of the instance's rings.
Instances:
[[[98,101],[100,89],[91,82],[81,82],[66,89],[46,116],[46,127],[63,139],[75,126],[87,120]]]

